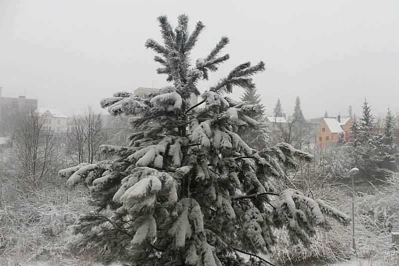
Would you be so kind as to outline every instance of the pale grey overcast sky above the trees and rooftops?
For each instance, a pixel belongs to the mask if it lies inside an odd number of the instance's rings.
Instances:
[[[279,97],[305,117],[399,111],[399,1],[133,1],[0,0],[0,86],[3,96],[39,99],[70,115],[103,97],[144,86],[163,87],[147,38],[161,41],[157,16],[172,24],[186,13],[205,29],[193,52],[204,57],[222,35],[230,54],[208,85],[233,66],[263,60],[255,77],[266,112]],[[235,89],[238,98],[241,89]]]

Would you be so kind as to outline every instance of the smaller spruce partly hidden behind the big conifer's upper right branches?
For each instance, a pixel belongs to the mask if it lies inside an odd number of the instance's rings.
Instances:
[[[257,106],[253,111],[249,111],[247,116],[254,119],[258,124],[248,124],[248,127],[241,127],[237,134],[250,148],[259,150],[268,147],[270,139],[265,124],[264,106],[260,103],[260,95],[256,93],[256,88],[244,90],[240,99],[245,104]]]

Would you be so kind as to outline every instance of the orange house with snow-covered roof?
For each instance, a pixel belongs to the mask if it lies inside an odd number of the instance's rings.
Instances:
[[[337,140],[340,133],[343,133],[346,137],[345,132],[349,131],[352,124],[352,117],[341,119],[339,115],[337,118],[323,118],[316,132],[317,146],[326,146],[329,141]]]

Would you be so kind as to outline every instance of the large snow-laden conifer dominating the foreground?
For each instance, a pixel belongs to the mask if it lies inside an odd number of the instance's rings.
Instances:
[[[240,265],[239,254],[258,258],[269,251],[275,228],[307,245],[315,227],[331,227],[324,216],[347,223],[348,216],[321,200],[274,188],[284,176],[279,164],[295,167],[298,159],[310,161],[310,154],[285,143],[254,150],[235,133],[257,124],[246,114],[258,107],[227,95],[234,86],[253,89],[251,76],[264,70],[263,62],[234,67],[190,106],[191,93],[200,94],[198,83],[229,58],[219,56],[228,38],[192,65],[202,22],[190,34],[186,15],[175,28],[166,16],[158,21],[164,44],[148,39],[145,45],[159,54],[157,72],[171,85],[146,96],[117,92],[103,99],[111,114],[133,116],[129,145],[103,145],[113,160],[60,171],[69,186],[87,185],[96,207],[80,218],[75,246],[96,245],[103,251],[97,258],[107,263]]]

